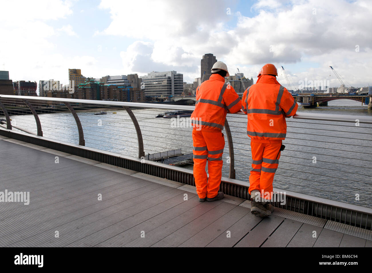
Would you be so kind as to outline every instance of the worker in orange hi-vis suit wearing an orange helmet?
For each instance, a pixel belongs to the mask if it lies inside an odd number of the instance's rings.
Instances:
[[[260,217],[271,215],[273,179],[278,168],[280,151],[285,146],[286,117],[296,114],[298,105],[291,93],[276,80],[273,64],[266,64],[256,84],[243,94],[241,109],[248,116],[247,134],[251,138],[252,170],[249,176],[251,213]]]

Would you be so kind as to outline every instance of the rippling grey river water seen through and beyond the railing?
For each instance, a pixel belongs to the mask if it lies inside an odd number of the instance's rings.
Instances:
[[[137,135],[126,111],[122,108],[106,110],[108,114],[97,116],[93,114],[99,112],[97,109],[78,112],[86,146],[138,156]],[[328,106],[316,109],[299,107],[298,111],[372,116],[366,105],[351,100],[330,101]],[[174,120],[155,118],[164,112],[161,109],[133,109],[133,112],[141,127],[145,154],[173,149],[192,153],[190,127],[176,127]],[[36,132],[32,115],[11,118],[13,125]],[[78,144],[77,127],[70,112],[39,114],[39,118],[45,137]],[[227,119],[234,142],[236,178],[248,181],[251,155],[246,116],[228,114]],[[356,126],[354,123],[289,118],[287,125],[288,133],[283,141],[286,149],[279,160],[275,188],[372,208],[371,124]],[[226,143],[223,176],[228,176],[228,156]],[[192,169],[192,165],[185,168]]]

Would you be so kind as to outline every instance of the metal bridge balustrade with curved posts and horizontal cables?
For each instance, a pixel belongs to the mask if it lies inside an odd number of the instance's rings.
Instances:
[[[192,153],[189,118],[155,116],[194,106],[0,95],[0,107],[2,135],[24,141],[34,136],[35,143],[61,150],[43,142],[54,140],[65,152],[194,185],[192,163],[181,168],[148,162],[174,150]],[[94,115],[101,110],[108,114]],[[287,192],[287,202],[275,206],[371,229],[372,117],[299,110],[286,121],[274,187]],[[252,159],[246,129],[243,112],[227,115],[221,189],[247,199]]]

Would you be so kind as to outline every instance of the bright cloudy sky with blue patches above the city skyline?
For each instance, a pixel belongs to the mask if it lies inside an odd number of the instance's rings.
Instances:
[[[265,63],[294,85],[346,80],[372,84],[371,0],[3,1],[0,70],[10,78],[68,82],[86,77],[176,70],[200,77],[203,54],[257,79]],[[280,69],[279,69],[280,68]],[[348,84],[347,84],[348,83]]]

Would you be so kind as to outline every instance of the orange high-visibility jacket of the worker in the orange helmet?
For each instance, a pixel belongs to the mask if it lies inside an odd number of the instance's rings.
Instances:
[[[247,135],[253,140],[283,140],[285,117],[296,114],[298,105],[274,76],[261,75],[243,94],[241,110],[247,113]]]

